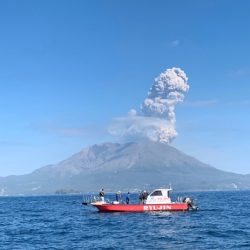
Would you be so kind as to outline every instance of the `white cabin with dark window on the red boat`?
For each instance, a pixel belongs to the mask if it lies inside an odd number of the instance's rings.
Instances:
[[[146,204],[169,204],[171,203],[171,199],[169,196],[169,192],[171,188],[160,188],[155,189],[152,193],[150,193],[147,197]]]

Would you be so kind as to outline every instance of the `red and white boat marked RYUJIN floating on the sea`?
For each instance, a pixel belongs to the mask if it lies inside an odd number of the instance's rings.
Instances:
[[[177,201],[172,202],[170,198],[171,191],[171,187],[155,189],[150,194],[144,191],[143,193],[146,194],[146,197],[144,196],[144,199],[140,199],[138,204],[124,204],[122,201],[110,202],[96,198],[90,202],[85,200],[82,204],[90,204],[100,212],[188,211],[198,209],[194,201],[188,197],[178,198]]]

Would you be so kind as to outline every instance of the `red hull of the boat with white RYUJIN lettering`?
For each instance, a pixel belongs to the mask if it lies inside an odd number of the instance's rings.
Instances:
[[[100,212],[150,212],[150,211],[187,211],[187,203],[170,204],[95,204]]]

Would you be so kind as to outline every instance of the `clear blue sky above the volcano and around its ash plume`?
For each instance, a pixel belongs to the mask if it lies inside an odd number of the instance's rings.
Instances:
[[[0,176],[112,140],[154,78],[182,68],[173,146],[250,173],[250,2],[0,1]]]

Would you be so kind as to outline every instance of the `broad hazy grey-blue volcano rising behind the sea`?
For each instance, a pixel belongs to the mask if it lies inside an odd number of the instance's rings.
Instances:
[[[93,145],[31,174],[0,178],[2,194],[133,190],[172,184],[175,190],[250,188],[249,175],[224,172],[156,142]]]

